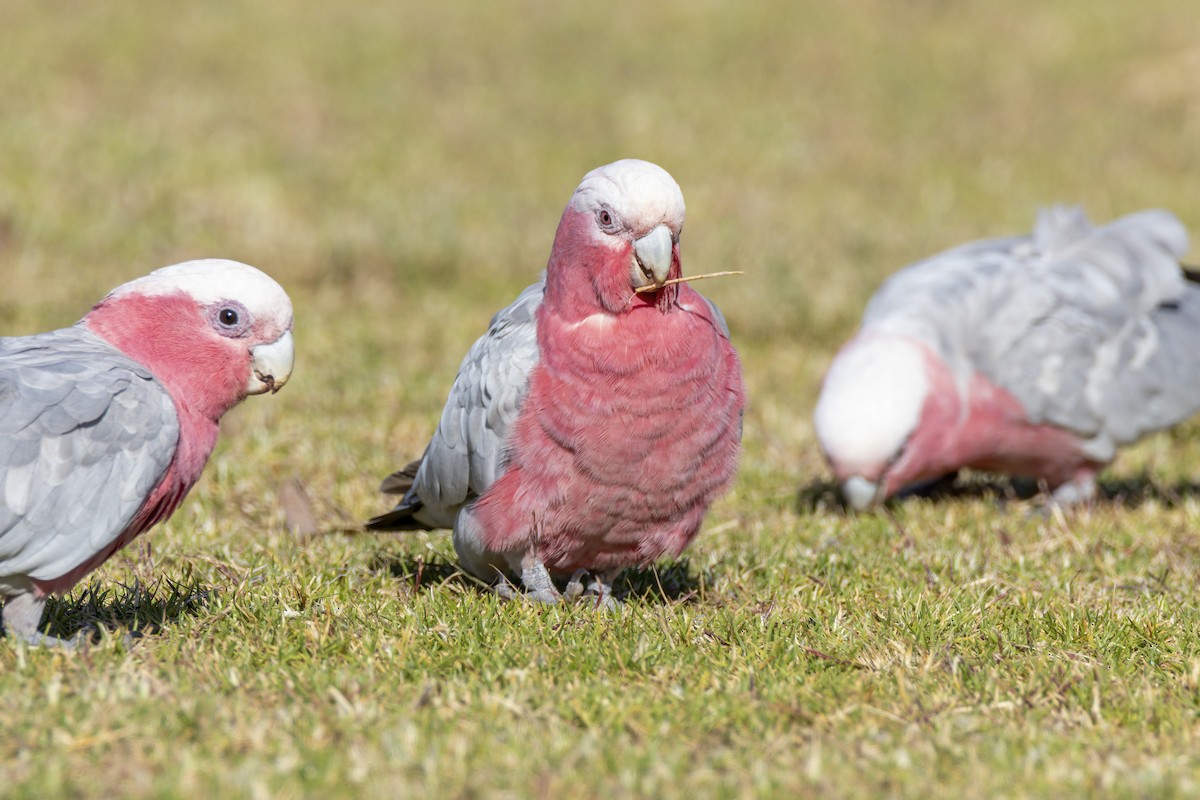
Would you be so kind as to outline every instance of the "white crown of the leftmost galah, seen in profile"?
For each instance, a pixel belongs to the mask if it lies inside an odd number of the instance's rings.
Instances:
[[[130,294],[160,296],[184,291],[202,305],[238,300],[258,318],[292,326],[292,300],[272,277],[248,264],[223,258],[182,261],[124,283],[108,297]]]

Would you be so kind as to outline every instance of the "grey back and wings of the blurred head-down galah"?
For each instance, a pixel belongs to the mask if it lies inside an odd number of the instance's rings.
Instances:
[[[1042,212],[1031,236],[972,242],[914,264],[871,299],[863,330],[916,337],[966,380],[1012,392],[1088,456],[1200,408],[1200,288],[1180,266],[1183,225],[1142,211],[1093,227]]]

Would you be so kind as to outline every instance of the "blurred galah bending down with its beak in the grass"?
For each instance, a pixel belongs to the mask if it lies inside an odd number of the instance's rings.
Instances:
[[[960,467],[1096,493],[1121,445],[1200,409],[1200,287],[1165,211],[1044,211],[892,276],[838,354],[816,434],[865,509]]]

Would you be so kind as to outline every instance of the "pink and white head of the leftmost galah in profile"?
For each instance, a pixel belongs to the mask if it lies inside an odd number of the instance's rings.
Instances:
[[[292,375],[292,301],[238,261],[155,270],[110,291],[82,324],[154,373],[176,404],[214,422]]]

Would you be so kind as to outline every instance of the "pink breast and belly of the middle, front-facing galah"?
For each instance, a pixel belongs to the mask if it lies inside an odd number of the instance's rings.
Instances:
[[[689,295],[582,321],[542,308],[509,468],[475,507],[487,547],[533,543],[559,572],[686,547],[732,480],[745,402],[733,348]]]

